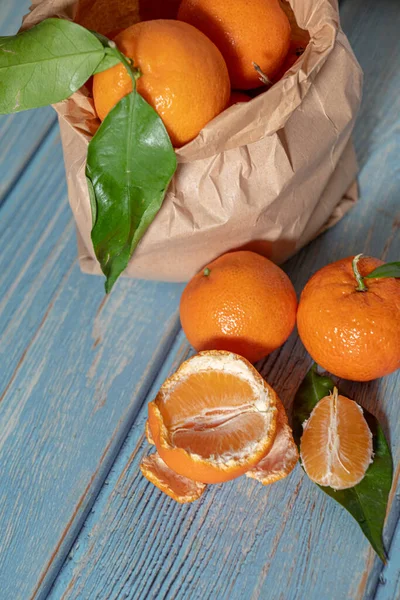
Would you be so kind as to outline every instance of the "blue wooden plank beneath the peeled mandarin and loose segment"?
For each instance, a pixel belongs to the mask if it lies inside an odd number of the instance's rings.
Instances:
[[[334,230],[287,264],[298,292],[312,272],[343,256],[364,252],[395,260],[400,255],[400,77],[392,61],[400,49],[400,14],[394,5],[389,0],[379,7],[372,0],[344,3],[344,26],[366,75],[356,129],[362,199]],[[180,333],[147,401],[188,351]],[[293,335],[261,372],[290,406],[309,364]],[[382,420],[392,441],[396,473],[384,535],[389,546],[399,516],[394,499],[400,472],[400,375],[368,384],[342,382],[341,387]],[[246,478],[209,487],[189,506],[158,492],[138,468],[149,450],[143,435],[146,410],[140,410],[50,598],[374,597],[382,564],[358,526],[300,468],[270,488]]]

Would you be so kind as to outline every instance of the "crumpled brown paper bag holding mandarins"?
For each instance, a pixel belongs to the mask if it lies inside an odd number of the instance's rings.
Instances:
[[[338,221],[357,200],[351,132],[362,72],[340,29],[336,0],[290,0],[309,31],[304,54],[272,88],[232,106],[177,150],[164,204],[124,275],[186,281],[234,248],[282,262]],[[71,19],[75,0],[36,0],[23,27]],[[55,106],[79,262],[101,273],[90,238],[87,145],[99,125],[83,88]]]

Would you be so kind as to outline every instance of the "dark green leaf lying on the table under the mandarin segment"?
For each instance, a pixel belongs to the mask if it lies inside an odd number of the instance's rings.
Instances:
[[[307,373],[293,402],[293,423],[297,443],[302,434],[299,427],[309,418],[319,400],[327,396],[333,387],[333,381],[329,377],[318,375],[316,365]],[[382,427],[373,415],[363,410],[372,431],[374,447],[374,460],[368,467],[364,479],[347,490],[335,491],[330,487],[318,487],[352,515],[379,558],[385,562],[386,552],[382,531],[392,486],[393,461]]]

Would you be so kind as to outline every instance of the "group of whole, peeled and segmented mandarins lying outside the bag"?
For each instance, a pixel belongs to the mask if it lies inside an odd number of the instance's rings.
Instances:
[[[365,279],[382,264],[360,256],[330,264],[299,305],[288,276],[263,256],[237,251],[206,265],[180,303],[199,354],[149,404],[147,438],[157,452],[142,462],[145,477],[178,502],[243,474],[264,485],[286,477],[298,450],[282,403],[250,363],[280,347],[297,321],[312,358],[337,377],[369,381],[398,369],[400,281]],[[335,389],[304,425],[300,453],[320,485],[359,483],[372,461],[362,409]]]

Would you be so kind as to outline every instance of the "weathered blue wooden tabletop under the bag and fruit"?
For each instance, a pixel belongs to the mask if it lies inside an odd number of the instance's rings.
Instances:
[[[2,0],[1,35],[27,4]],[[298,292],[356,251],[400,256],[398,2],[345,0],[342,22],[365,70],[362,199],[285,266]],[[190,352],[182,286],[123,280],[104,300],[101,279],[79,272],[54,122],[51,109],[29,125],[24,113],[0,120],[1,600],[45,597],[53,582],[53,599],[399,598],[398,373],[343,382],[391,440],[383,571],[300,469],[270,488],[246,478],[212,486],[183,507],[142,478],[147,401]],[[286,406],[308,366],[295,335],[260,365]]]

